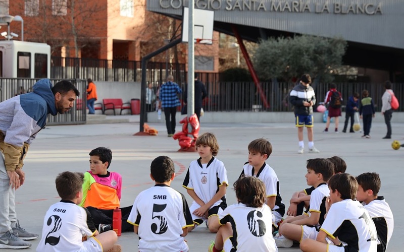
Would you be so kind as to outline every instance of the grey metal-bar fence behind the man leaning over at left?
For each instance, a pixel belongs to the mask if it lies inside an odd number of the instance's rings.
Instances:
[[[57,83],[61,79],[52,79],[52,83]],[[19,94],[32,92],[32,86],[38,79],[7,79],[0,78],[0,102],[10,99]],[[48,115],[47,124],[83,124],[86,122],[86,85],[85,80],[68,80],[72,82],[80,91],[80,97],[74,103],[70,111],[56,116]]]

